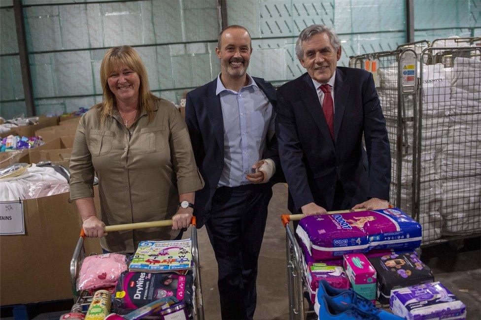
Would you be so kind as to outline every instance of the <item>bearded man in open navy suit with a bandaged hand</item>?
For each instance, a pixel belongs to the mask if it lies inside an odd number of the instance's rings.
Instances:
[[[215,49],[221,73],[187,94],[185,121],[204,189],[194,215],[206,224],[218,264],[222,319],[252,319],[257,259],[272,196],[281,172],[276,150],[275,89],[246,73],[249,32],[230,26]]]

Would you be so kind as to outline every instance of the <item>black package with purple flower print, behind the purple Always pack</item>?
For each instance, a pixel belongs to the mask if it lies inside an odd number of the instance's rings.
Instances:
[[[422,263],[415,252],[368,258],[377,271],[377,299],[389,303],[392,289],[434,281],[433,272]]]

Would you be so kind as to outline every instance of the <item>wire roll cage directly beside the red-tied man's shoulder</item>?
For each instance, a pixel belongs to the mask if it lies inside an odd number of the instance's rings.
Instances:
[[[424,44],[417,41],[412,44]],[[378,77],[375,78],[376,89],[381,102],[382,111],[386,119],[388,138],[391,145],[391,198],[390,202],[395,207],[405,212],[412,212],[414,218],[414,197],[402,197],[402,191],[412,190],[414,194],[415,184],[413,179],[407,176],[414,176],[416,167],[416,126],[417,126],[417,53],[410,48],[393,51],[376,52],[351,57],[350,67],[364,68],[368,62],[376,62]],[[403,74],[403,66],[409,64],[412,69],[409,81]],[[383,70],[381,73],[380,71]],[[381,76],[382,75],[382,76]],[[411,157],[411,168],[406,165],[406,156]],[[407,172],[408,171],[408,172]],[[404,190],[403,190],[404,188]]]

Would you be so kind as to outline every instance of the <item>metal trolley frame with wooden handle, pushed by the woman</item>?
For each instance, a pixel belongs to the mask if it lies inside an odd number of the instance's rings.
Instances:
[[[157,222],[137,223],[137,224],[120,224],[109,225],[105,227],[105,231],[117,231],[117,230],[132,230],[153,226],[172,226],[172,220],[163,220]],[[78,273],[80,271],[80,262],[85,258],[84,248],[85,233],[83,229],[80,231],[80,237],[77,241],[77,245],[73,252],[72,259],[70,260],[70,277],[72,281],[73,300],[75,303],[82,305],[90,304],[92,301],[92,295],[88,291],[77,291],[76,284]],[[202,283],[200,272],[200,260],[199,260],[199,247],[197,242],[197,228],[195,217],[191,221],[191,240],[192,240],[192,260],[193,260],[193,274],[194,274],[194,319],[204,320],[204,302],[202,297]]]

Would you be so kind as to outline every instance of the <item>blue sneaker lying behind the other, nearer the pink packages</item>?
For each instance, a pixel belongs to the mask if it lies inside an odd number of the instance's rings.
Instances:
[[[389,312],[376,308],[376,306],[370,300],[357,294],[354,290],[333,288],[325,280],[319,281],[319,289],[317,290],[316,302],[320,295],[328,296],[337,305],[342,305],[342,306],[353,305],[361,312],[372,315],[373,317],[375,317],[374,319],[383,319],[383,320],[384,319],[385,320],[403,319]]]

